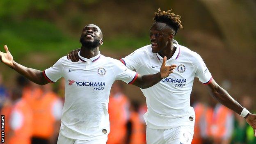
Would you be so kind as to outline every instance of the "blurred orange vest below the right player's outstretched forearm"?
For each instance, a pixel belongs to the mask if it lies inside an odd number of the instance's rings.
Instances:
[[[209,108],[206,112],[207,135],[216,139],[221,139],[226,133],[225,127],[227,115],[231,116],[232,111],[224,105],[219,105],[214,113],[213,108]]]

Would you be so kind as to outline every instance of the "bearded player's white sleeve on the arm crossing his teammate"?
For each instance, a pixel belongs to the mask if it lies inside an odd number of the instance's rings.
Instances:
[[[133,84],[133,82],[138,77],[138,73],[128,69],[117,59],[114,59],[114,66],[112,67],[112,69],[117,80],[122,80],[123,82],[126,82],[128,84]]]

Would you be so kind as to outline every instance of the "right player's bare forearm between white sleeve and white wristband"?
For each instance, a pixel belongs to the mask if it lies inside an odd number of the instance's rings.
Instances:
[[[243,107],[219,85],[216,85],[214,89],[210,89],[210,95],[215,97],[222,105],[225,105],[236,113],[241,114]]]

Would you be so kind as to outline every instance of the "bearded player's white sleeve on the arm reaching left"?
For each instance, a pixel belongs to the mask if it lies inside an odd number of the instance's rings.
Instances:
[[[59,59],[52,67],[46,69],[43,71],[43,76],[48,80],[49,82],[57,82],[62,77],[62,58]]]

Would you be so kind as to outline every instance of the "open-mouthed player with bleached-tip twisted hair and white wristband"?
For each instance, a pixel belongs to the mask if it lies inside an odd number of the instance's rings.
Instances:
[[[128,69],[140,74],[159,71],[161,63],[167,57],[167,64],[177,64],[177,69],[169,77],[148,89],[141,89],[146,97],[148,111],[146,121],[146,142],[148,144],[190,144],[194,134],[194,109],[190,107],[190,93],[194,77],[207,85],[211,96],[220,103],[245,118],[256,129],[256,115],[236,102],[220,87],[197,53],[181,46],[173,38],[183,28],[181,16],[171,10],[155,13],[155,23],[150,29],[151,45],[135,50],[120,59]],[[78,50],[68,55],[72,61],[78,60]]]

